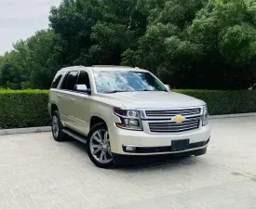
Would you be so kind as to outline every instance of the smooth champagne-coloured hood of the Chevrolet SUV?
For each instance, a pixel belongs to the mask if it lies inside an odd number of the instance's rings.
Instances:
[[[118,92],[103,94],[101,97],[115,99],[125,108],[131,109],[188,108],[205,105],[202,100],[174,92]]]

